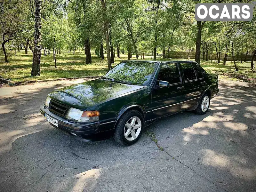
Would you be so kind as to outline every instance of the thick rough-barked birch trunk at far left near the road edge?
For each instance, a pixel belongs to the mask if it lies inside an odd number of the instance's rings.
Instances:
[[[40,76],[41,64],[41,0],[35,0],[35,40],[31,76]]]

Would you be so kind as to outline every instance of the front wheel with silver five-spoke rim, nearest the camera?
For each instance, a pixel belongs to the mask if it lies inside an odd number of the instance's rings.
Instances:
[[[114,139],[121,145],[136,143],[144,129],[144,118],[137,110],[124,113],[116,124]]]

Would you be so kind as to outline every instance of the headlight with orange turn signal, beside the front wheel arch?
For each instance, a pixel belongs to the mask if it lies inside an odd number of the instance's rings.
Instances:
[[[92,122],[99,120],[99,111],[82,111],[75,108],[70,108],[66,117],[79,122]]]

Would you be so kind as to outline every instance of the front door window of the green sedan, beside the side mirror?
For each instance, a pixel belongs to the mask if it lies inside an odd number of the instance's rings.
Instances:
[[[177,63],[163,64],[157,80],[168,81],[170,84],[180,83],[180,71]]]

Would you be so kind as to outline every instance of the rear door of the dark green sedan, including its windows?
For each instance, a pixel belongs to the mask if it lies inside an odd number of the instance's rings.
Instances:
[[[180,66],[184,76],[184,103],[182,109],[188,109],[199,102],[205,81],[202,73],[193,62],[181,61]]]

